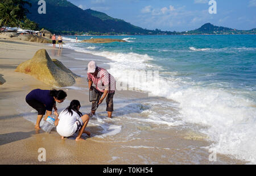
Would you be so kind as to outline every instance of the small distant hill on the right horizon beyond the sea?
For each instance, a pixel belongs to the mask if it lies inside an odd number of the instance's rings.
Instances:
[[[181,32],[187,35],[195,34],[255,34],[256,28],[252,30],[236,30],[228,27],[214,26],[210,23],[205,23],[203,26],[196,30]]]

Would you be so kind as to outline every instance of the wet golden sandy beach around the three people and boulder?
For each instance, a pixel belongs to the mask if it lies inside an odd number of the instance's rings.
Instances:
[[[67,48],[59,50],[58,47],[59,45],[56,45],[56,49],[52,49],[46,44],[0,39],[0,77],[4,80],[0,85],[0,164],[246,164],[222,154],[217,154],[217,161],[209,161],[210,153],[204,148],[210,145],[207,137],[187,128],[173,127],[166,131],[158,124],[128,123],[129,119],[125,118],[125,115],[136,117],[141,114],[143,108],[147,108],[147,102],[171,101],[148,97],[146,93],[138,91],[115,93],[113,119],[106,118],[104,100],[97,111],[97,118],[92,118],[86,128],[92,136],[82,135],[85,141],[77,142],[74,137],[61,140],[56,131],[48,134],[40,130],[37,133],[34,130],[36,113],[28,106],[25,97],[33,89],[53,87],[27,74],[14,72],[16,66],[32,58],[39,49],[46,49],[52,59],[61,61],[74,73],[76,68],[84,68],[86,73],[88,64],[74,58],[86,57],[96,60],[99,66],[106,69],[110,62],[100,56]],[[90,112],[86,77],[77,78],[72,87],[55,89],[63,89],[68,94],[64,103],[57,104],[59,111],[67,107],[72,99],[78,99],[82,113]],[[125,107],[131,107],[131,111],[125,111],[122,103],[128,104]],[[142,105],[139,110],[133,111],[134,104],[135,108],[138,104]],[[175,108],[173,111],[175,113]],[[104,124],[109,131],[102,131],[102,127],[97,124]],[[118,133],[110,134],[112,127],[114,132],[119,130]],[[131,131],[139,132],[132,139],[123,140],[126,136],[129,137]],[[39,148],[46,149],[46,161],[38,160]]]

